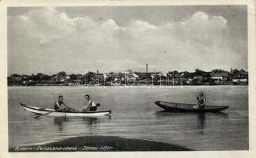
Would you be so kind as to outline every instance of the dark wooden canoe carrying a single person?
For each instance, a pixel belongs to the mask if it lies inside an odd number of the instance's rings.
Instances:
[[[194,109],[195,104],[189,103],[170,103],[163,101],[156,101],[159,107],[162,107],[166,111],[177,111],[177,112],[218,112],[228,108],[228,106],[213,106],[206,105],[203,109]]]

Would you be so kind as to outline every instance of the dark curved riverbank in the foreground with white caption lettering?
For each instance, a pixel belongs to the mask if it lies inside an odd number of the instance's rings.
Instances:
[[[117,152],[117,151],[190,151],[185,147],[159,141],[127,137],[86,136],[71,137],[46,145],[17,146],[9,152]]]

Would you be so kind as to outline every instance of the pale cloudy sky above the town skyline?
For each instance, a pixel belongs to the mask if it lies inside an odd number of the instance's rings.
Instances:
[[[246,6],[9,7],[8,74],[247,70]]]

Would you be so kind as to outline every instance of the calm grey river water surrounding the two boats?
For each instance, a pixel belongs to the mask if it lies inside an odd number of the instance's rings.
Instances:
[[[198,92],[207,103],[229,105],[220,113],[164,112],[156,100],[196,103]],[[82,110],[90,94],[112,110],[112,117],[33,119],[19,103],[52,108],[59,95],[65,103]],[[195,150],[248,149],[248,87],[9,87],[9,144],[40,145],[76,136],[120,136],[162,141]]]

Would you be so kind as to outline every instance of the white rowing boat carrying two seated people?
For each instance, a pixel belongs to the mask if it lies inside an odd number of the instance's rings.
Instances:
[[[23,107],[26,111],[32,112],[36,115],[50,115],[50,116],[60,116],[60,117],[94,117],[94,116],[102,116],[109,115],[111,111],[55,111],[51,108],[41,108],[41,107],[32,107],[21,103],[21,107]]]

